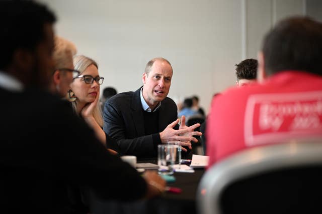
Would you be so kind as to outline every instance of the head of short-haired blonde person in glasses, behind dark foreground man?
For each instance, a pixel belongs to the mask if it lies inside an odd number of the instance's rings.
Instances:
[[[72,78],[79,75],[74,70],[72,57],[76,54],[76,46],[62,37],[54,38],[54,72],[50,83],[50,91],[61,98],[65,98]]]

